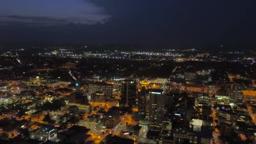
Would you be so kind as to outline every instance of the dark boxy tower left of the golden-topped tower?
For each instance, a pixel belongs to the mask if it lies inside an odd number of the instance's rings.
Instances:
[[[132,106],[136,103],[136,81],[123,80],[122,82],[122,103],[125,106]]]

